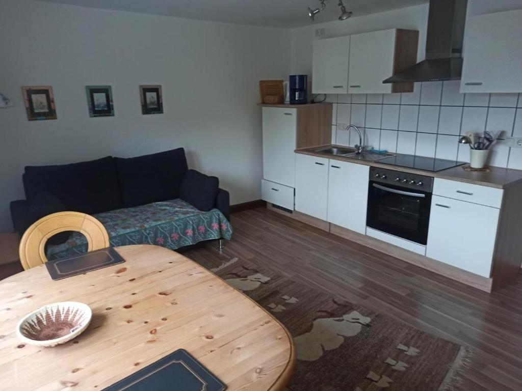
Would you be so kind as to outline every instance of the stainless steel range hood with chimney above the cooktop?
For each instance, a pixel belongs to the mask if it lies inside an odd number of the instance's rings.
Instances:
[[[430,0],[425,60],[383,83],[460,80],[468,0]]]

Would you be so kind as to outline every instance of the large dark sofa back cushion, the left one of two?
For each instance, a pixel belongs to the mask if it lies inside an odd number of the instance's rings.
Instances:
[[[46,191],[75,212],[95,214],[122,207],[111,156],[57,166],[28,166],[23,185],[30,202],[39,192]]]

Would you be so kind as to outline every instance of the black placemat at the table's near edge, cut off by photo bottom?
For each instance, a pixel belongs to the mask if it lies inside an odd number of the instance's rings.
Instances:
[[[185,349],[178,349],[103,391],[223,391],[227,389]]]

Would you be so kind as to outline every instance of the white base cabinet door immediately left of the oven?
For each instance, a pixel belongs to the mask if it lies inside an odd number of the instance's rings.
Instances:
[[[370,167],[330,160],[328,170],[328,222],[364,235]]]

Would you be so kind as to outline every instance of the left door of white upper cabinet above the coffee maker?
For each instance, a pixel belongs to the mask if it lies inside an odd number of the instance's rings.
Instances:
[[[314,41],[312,92],[346,94],[348,92],[348,56],[350,36]]]

